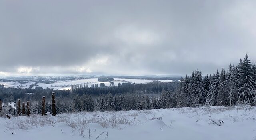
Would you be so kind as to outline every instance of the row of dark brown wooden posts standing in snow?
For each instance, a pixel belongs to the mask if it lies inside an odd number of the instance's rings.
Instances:
[[[20,99],[18,99],[18,115],[21,113],[23,115],[30,115],[30,102],[27,101],[27,111],[25,112],[25,102],[22,102],[22,108],[20,106]],[[2,111],[2,100],[0,100],[0,111]],[[45,96],[42,97],[42,115],[45,115]],[[56,116],[56,106],[55,106],[55,93],[52,92],[52,115]]]

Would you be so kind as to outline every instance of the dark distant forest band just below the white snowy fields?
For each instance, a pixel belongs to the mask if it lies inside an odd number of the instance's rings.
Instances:
[[[144,84],[122,83],[114,87],[83,87],[72,90],[52,90],[50,88],[38,89],[20,89],[20,88],[0,88],[0,99],[3,102],[13,102],[18,99],[38,101],[42,96],[51,98],[51,93],[56,93],[56,99],[68,98],[73,99],[76,95],[91,95],[92,97],[109,92],[115,94],[139,93],[139,94],[158,94],[162,89],[174,91],[179,86],[179,82],[150,82]]]

